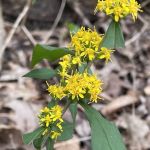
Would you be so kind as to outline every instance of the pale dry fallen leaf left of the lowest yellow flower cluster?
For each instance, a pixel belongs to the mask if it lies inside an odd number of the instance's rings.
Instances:
[[[32,131],[38,125],[37,115],[41,106],[36,104],[32,107],[32,105],[34,104],[19,100],[13,100],[5,104],[5,107],[13,110],[14,113],[10,113],[8,116],[16,124],[16,128],[22,132]]]

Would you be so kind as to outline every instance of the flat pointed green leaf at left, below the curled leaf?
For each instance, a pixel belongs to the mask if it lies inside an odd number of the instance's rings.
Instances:
[[[25,74],[23,77],[30,77],[36,79],[50,79],[55,75],[57,75],[57,71],[48,68],[41,68],[41,69],[34,69]]]

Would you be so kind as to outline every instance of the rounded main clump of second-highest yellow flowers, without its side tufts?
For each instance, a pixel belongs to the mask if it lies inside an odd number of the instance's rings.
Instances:
[[[103,36],[99,35],[96,30],[81,27],[79,31],[71,35],[71,43],[69,48],[75,50],[74,63],[81,63],[80,60],[89,59],[93,60],[95,58],[96,52],[99,50],[99,45],[102,41]],[[79,60],[80,58],[80,60]]]

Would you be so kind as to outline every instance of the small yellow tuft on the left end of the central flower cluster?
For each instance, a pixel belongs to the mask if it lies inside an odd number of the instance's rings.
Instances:
[[[64,92],[64,87],[62,87],[61,85],[48,85],[47,91],[54,97],[57,99],[62,99],[66,96],[65,92]]]

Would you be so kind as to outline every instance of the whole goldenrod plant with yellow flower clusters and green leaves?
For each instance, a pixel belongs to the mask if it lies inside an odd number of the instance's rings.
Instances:
[[[136,0],[98,0],[95,13],[98,11],[112,18],[105,35],[99,34],[95,28],[78,28],[71,24],[71,41],[67,48],[37,44],[33,49],[32,66],[43,59],[51,62],[59,59],[56,70],[33,69],[24,75],[46,80],[47,92],[51,96],[48,106],[39,112],[39,128],[23,135],[24,143],[32,143],[37,150],[43,147],[53,150],[55,142],[72,138],[78,105],[83,108],[91,126],[92,150],[126,149],[117,127],[90,105],[100,102],[104,84],[90,66],[98,59],[104,60],[106,65],[111,61],[114,49],[124,47],[120,19],[131,14],[135,21],[142,10]],[[59,83],[51,85],[47,81],[53,77],[58,77]],[[66,103],[65,106],[61,101]],[[63,118],[68,109],[72,122]]]

